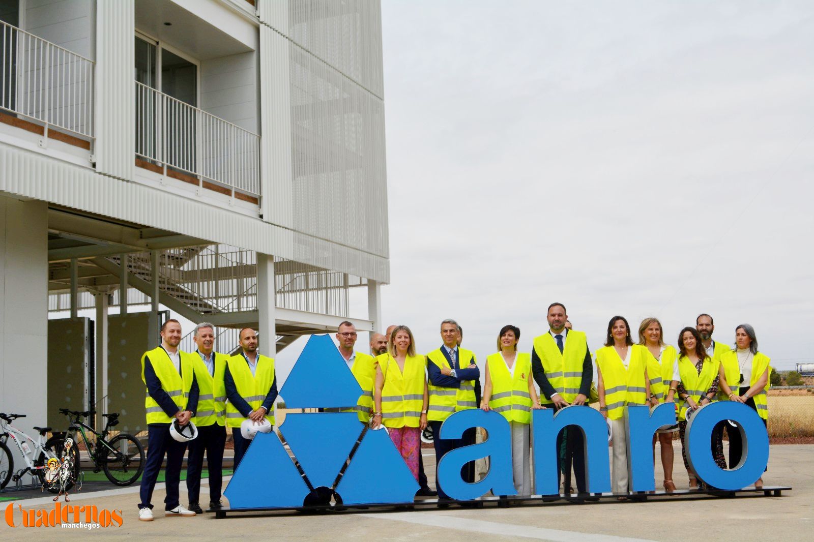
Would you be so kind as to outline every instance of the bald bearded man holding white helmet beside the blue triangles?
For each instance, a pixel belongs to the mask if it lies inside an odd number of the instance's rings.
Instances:
[[[269,342],[274,345],[274,337]],[[226,360],[223,381],[229,399],[226,426],[232,428],[234,469],[237,470],[243,454],[252,444],[241,435],[240,424],[247,419],[260,423],[265,417],[274,426],[274,400],[277,399],[274,358],[257,352],[257,334],[252,328],[240,330],[240,353]]]

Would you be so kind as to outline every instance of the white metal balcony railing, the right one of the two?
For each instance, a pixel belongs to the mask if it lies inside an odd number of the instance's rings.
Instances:
[[[260,136],[136,84],[136,155],[162,168],[260,195]]]

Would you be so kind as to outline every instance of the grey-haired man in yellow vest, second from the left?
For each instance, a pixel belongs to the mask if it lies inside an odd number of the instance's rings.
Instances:
[[[190,498],[190,510],[203,514],[199,505],[201,472],[204,468],[204,452],[209,470],[209,508],[221,508],[223,487],[223,448],[226,444],[226,390],[223,375],[226,356],[215,352],[215,327],[201,322],[192,332],[197,348],[190,354],[195,379],[198,381],[198,412],[192,422],[198,428],[198,438],[190,442],[186,459],[186,491]]]

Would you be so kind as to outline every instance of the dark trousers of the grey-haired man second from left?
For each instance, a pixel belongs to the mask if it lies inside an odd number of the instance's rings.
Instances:
[[[209,502],[221,500],[223,487],[223,448],[226,444],[226,428],[213,423],[211,426],[198,426],[198,438],[190,442],[190,453],[186,458],[186,492],[190,505],[199,503],[201,471],[204,469],[204,452],[209,471]]]

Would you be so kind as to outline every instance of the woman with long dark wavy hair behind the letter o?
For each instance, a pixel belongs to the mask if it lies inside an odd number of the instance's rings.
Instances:
[[[701,343],[701,335],[694,327],[685,327],[678,335],[678,373],[681,382],[678,383],[677,395],[679,398],[678,435],[681,438],[681,458],[689,475],[689,488],[698,489],[698,479],[687,461],[687,447],[685,433],[687,431],[687,413],[700,409],[704,404],[711,403],[718,393],[718,365],[707,349]],[[715,457],[717,466],[726,468],[724,452],[716,447],[715,433],[713,432],[710,446],[712,457]]]

